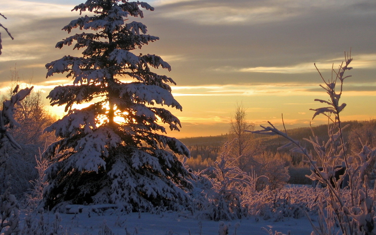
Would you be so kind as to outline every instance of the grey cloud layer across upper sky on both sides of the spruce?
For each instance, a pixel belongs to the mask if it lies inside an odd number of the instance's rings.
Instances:
[[[145,11],[144,19],[135,19],[145,23],[150,34],[161,38],[146,45],[143,52],[165,56],[173,70],[159,73],[173,77],[178,85],[311,83],[317,79],[312,71],[240,70],[296,67],[303,63],[310,63],[313,68],[313,62],[342,58],[343,51],[350,47],[354,58],[376,55],[376,3],[373,0],[196,0],[170,4],[162,0],[154,3],[154,12]],[[23,17],[22,14],[19,17]],[[61,28],[73,19],[45,16],[14,24],[12,33],[16,40],[12,44],[23,46],[26,58],[17,62],[20,67],[39,64],[33,67],[33,72],[42,80],[45,68],[40,65],[76,54],[69,47],[54,48],[56,42],[68,36]],[[34,59],[27,59],[32,57]],[[1,77],[8,73],[8,69],[3,68],[14,66],[14,62],[2,62]],[[359,68],[357,73],[364,76],[358,82],[373,81],[375,71],[375,67]]]

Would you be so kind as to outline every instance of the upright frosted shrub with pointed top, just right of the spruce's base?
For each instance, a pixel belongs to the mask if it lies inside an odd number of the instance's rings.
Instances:
[[[252,178],[234,166],[236,159],[229,156],[229,150],[230,146],[226,143],[214,167],[199,173],[196,180],[207,202],[197,194],[194,200],[202,210],[201,215],[215,221],[242,218],[248,214],[247,206],[243,203],[243,192],[252,186]]]

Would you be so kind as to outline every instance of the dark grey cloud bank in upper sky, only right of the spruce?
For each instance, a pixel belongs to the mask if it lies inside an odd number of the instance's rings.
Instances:
[[[352,47],[353,55],[376,53],[376,11],[374,2],[320,1],[305,5],[305,1],[191,1],[156,7],[145,21],[150,32],[161,36],[155,49],[161,53],[181,55],[186,61],[174,62],[179,74],[190,74],[189,82],[223,83],[221,77],[232,82],[267,81],[293,82],[296,76],[278,74],[215,73],[215,68],[241,69],[245,67],[285,67],[304,62],[326,61],[343,57],[343,51]],[[306,1],[315,3],[315,1]],[[205,13],[200,9],[222,6],[229,12],[236,9],[277,8],[277,15],[260,22],[223,22],[225,12],[219,12],[218,21],[205,24]],[[184,12],[175,14],[171,12]],[[195,10],[201,14],[194,14]],[[279,14],[279,15],[278,15]],[[210,16],[215,12],[210,12]],[[267,16],[264,16],[267,18]],[[280,18],[280,20],[279,20]],[[313,66],[313,65],[312,65]],[[194,68],[194,69],[193,69]],[[194,71],[193,71],[194,70]],[[193,72],[193,74],[192,74]],[[200,76],[201,74],[201,76]],[[206,79],[203,80],[203,77]],[[301,77],[301,76],[300,76]],[[265,80],[266,79],[266,80]],[[183,77],[183,81],[188,77]],[[218,82],[219,80],[219,82]],[[302,79],[310,80],[310,79]]]

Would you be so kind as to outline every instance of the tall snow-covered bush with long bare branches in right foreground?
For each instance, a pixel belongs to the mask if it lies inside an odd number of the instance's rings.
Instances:
[[[321,193],[321,198],[326,203],[327,213],[321,214],[325,217],[325,226],[313,227],[317,234],[335,234],[336,224],[343,234],[375,234],[375,210],[374,210],[374,190],[367,186],[367,176],[365,169],[370,162],[374,161],[376,148],[369,148],[364,145],[359,153],[349,155],[346,151],[346,143],[343,138],[343,127],[340,120],[340,112],[346,104],[340,104],[340,98],[343,91],[343,82],[349,76],[344,76],[347,70],[350,70],[350,55],[345,53],[345,62],[335,71],[332,69],[332,79],[326,81],[320,73],[325,85],[320,85],[329,95],[329,100],[315,99],[326,104],[326,107],[312,109],[315,111],[313,118],[317,115],[325,115],[331,124],[328,125],[329,138],[325,142],[320,142],[313,136],[305,139],[312,144],[315,155],[310,153],[298,141],[290,138],[275,128],[270,122],[270,127],[262,127],[262,130],[253,131],[253,133],[263,133],[268,135],[280,135],[290,142],[282,147],[294,146],[292,151],[302,153],[306,160],[311,163],[312,174],[309,176],[312,180],[318,180],[324,183],[327,193]],[[342,176],[336,179],[335,173],[340,168],[337,165],[343,165],[346,170]],[[320,168],[321,167],[321,168]],[[348,182],[344,182],[345,180]],[[347,188],[343,188],[342,183],[348,183]],[[329,229],[328,229],[329,228]]]

